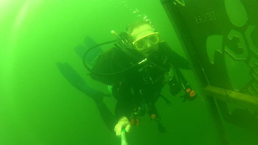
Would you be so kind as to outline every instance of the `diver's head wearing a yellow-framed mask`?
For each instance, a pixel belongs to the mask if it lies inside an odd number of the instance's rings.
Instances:
[[[134,48],[145,57],[158,49],[159,33],[148,22],[138,21],[131,24],[128,33],[132,37]]]

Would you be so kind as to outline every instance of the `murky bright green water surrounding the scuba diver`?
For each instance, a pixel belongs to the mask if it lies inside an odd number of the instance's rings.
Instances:
[[[185,57],[159,0],[0,0],[0,144],[120,144],[93,100],[64,78],[56,62],[68,63],[90,87],[108,93],[106,85],[87,76],[74,48],[86,36],[97,43],[114,40],[111,30],[123,32],[144,14],[161,39]],[[198,93],[192,72],[183,74]],[[146,116],[141,126],[133,126],[127,134],[130,145],[220,144],[200,95],[183,103],[179,97],[183,92],[173,97],[167,86],[163,95],[172,102],[171,107],[162,99],[156,103],[167,132],[159,133],[156,122]],[[116,100],[105,98],[104,102],[114,113]],[[256,134],[224,125],[230,144],[258,144]]]

